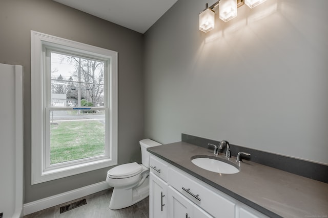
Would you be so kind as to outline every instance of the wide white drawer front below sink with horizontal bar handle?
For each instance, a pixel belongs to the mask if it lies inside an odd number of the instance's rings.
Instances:
[[[236,204],[204,187],[200,182],[184,172],[169,168],[169,184],[182,195],[214,217],[234,218]]]

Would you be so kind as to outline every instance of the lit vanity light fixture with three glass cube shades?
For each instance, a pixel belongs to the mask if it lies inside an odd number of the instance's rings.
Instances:
[[[224,22],[237,16],[237,8],[246,4],[250,8],[254,8],[267,0],[219,0],[209,7],[206,3],[206,8],[199,13],[199,30],[205,33],[214,29],[215,12],[214,8],[219,7],[219,17]]]

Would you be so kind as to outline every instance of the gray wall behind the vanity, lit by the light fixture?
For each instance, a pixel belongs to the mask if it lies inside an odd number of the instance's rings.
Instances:
[[[145,34],[146,137],[187,133],[328,164],[328,1],[242,6],[203,33],[207,2],[179,0]]]

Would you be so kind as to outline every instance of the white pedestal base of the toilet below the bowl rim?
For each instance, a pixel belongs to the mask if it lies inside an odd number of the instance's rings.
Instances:
[[[140,186],[129,189],[114,188],[109,208],[112,210],[130,207],[149,196],[149,178]]]

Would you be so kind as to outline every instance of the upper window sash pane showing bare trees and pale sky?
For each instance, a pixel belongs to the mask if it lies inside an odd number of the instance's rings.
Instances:
[[[51,52],[51,106],[105,105],[104,67],[103,61]]]

